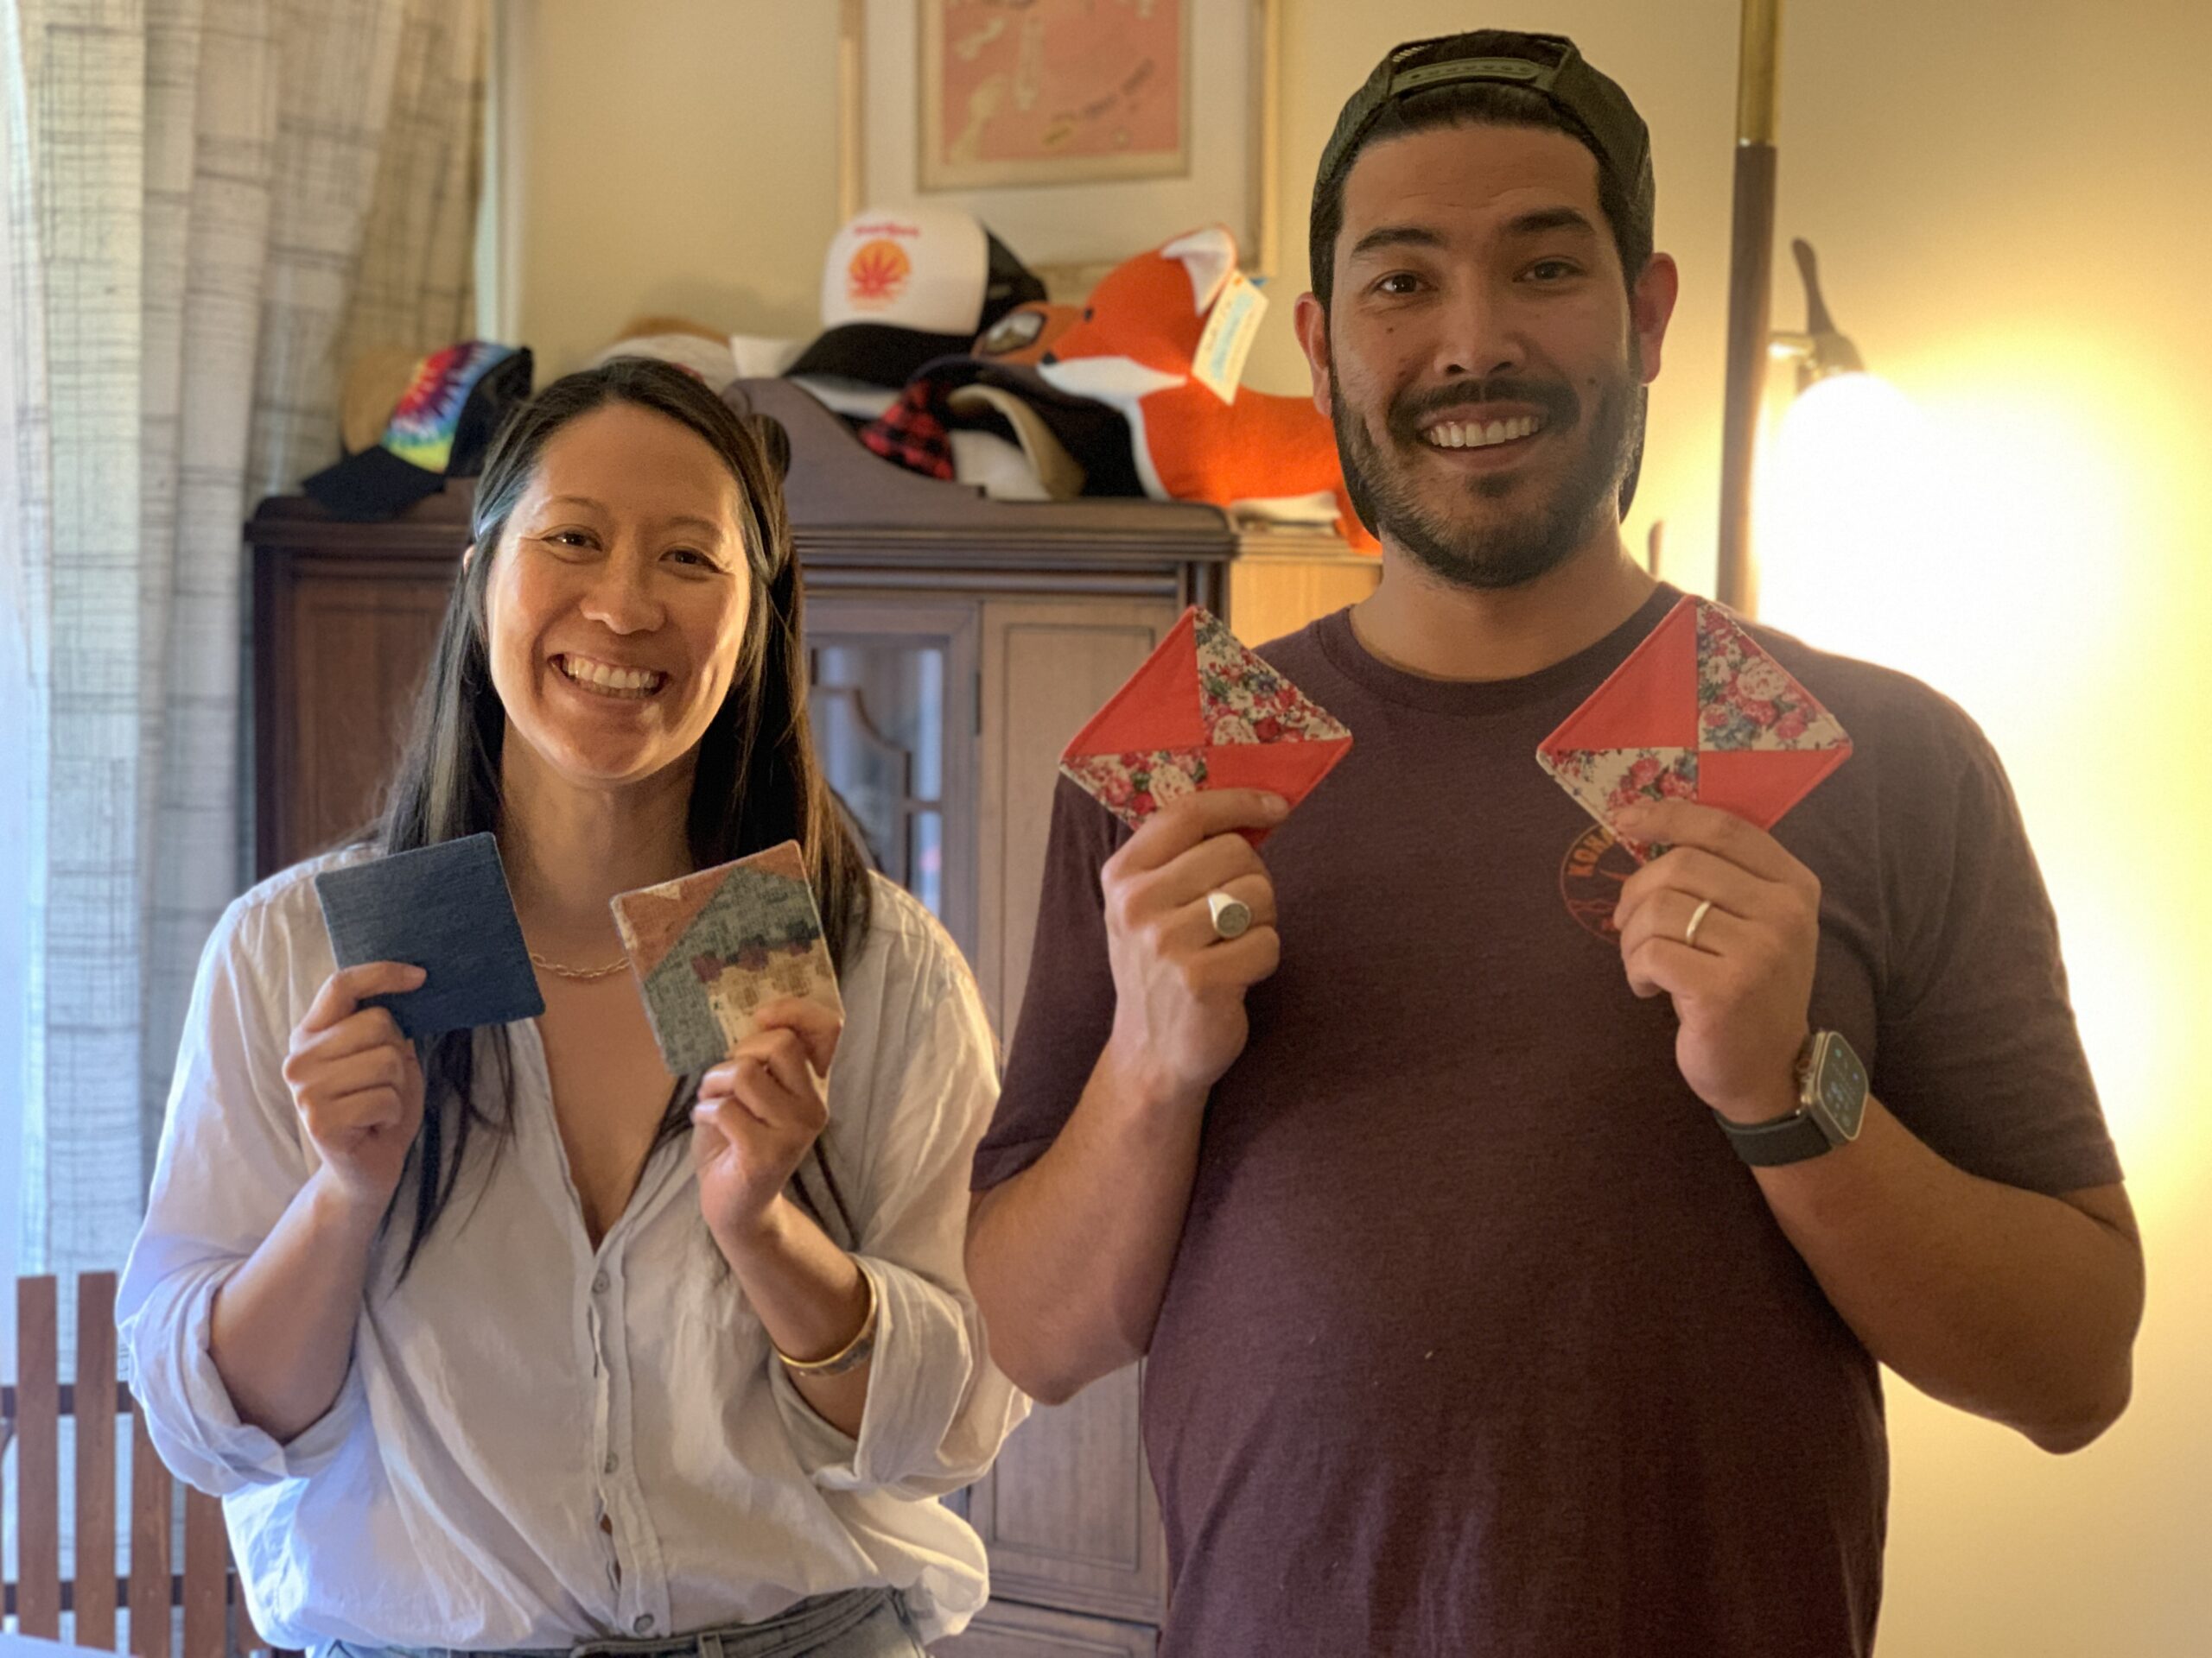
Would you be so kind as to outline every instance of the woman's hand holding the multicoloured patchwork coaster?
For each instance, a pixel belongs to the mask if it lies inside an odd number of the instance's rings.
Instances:
[[[726,1258],[748,1253],[807,1147],[830,1125],[830,1059],[843,1021],[818,1001],[787,997],[699,1081],[692,1154],[699,1214]]]

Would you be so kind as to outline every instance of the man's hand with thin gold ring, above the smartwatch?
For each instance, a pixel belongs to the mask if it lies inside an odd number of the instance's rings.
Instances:
[[[1690,800],[1624,811],[1619,827],[1668,847],[1621,884],[1613,911],[1628,986],[1674,999],[1674,1063],[1712,1110],[1736,1123],[1787,1116],[1820,942],[1818,878],[1765,829]]]

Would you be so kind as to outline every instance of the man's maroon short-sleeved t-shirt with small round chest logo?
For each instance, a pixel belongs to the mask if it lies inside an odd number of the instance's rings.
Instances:
[[[1626,856],[1535,760],[1681,595],[1544,672],[1438,683],[1347,615],[1263,654],[1354,732],[1263,847],[1283,966],[1212,1092],[1152,1333],[1166,1658],[1838,1658],[1874,1640],[1874,1360],[1674,1068],[1606,915]],[[1902,674],[1754,628],[1856,754],[1776,838],[1823,882],[1814,1026],[1951,1163],[2119,1178],[1995,754]],[[975,1187],[1113,1019],[1062,783]]]

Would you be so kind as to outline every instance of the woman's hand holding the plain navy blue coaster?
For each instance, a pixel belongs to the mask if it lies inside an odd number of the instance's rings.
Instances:
[[[425,977],[405,962],[338,968],[316,990],[283,1061],[292,1108],[323,1158],[323,1178],[374,1214],[392,1203],[422,1125],[422,1066],[398,1021],[361,1001],[416,990]]]

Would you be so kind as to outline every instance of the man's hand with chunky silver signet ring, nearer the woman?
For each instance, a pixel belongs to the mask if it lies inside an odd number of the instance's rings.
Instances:
[[[1259,789],[1186,794],[1106,860],[1108,1054],[1155,1099],[1203,1101],[1250,1037],[1245,990],[1274,973],[1274,884],[1239,829],[1272,829],[1290,805]],[[1243,937],[1214,933],[1208,893],[1252,909]]]

